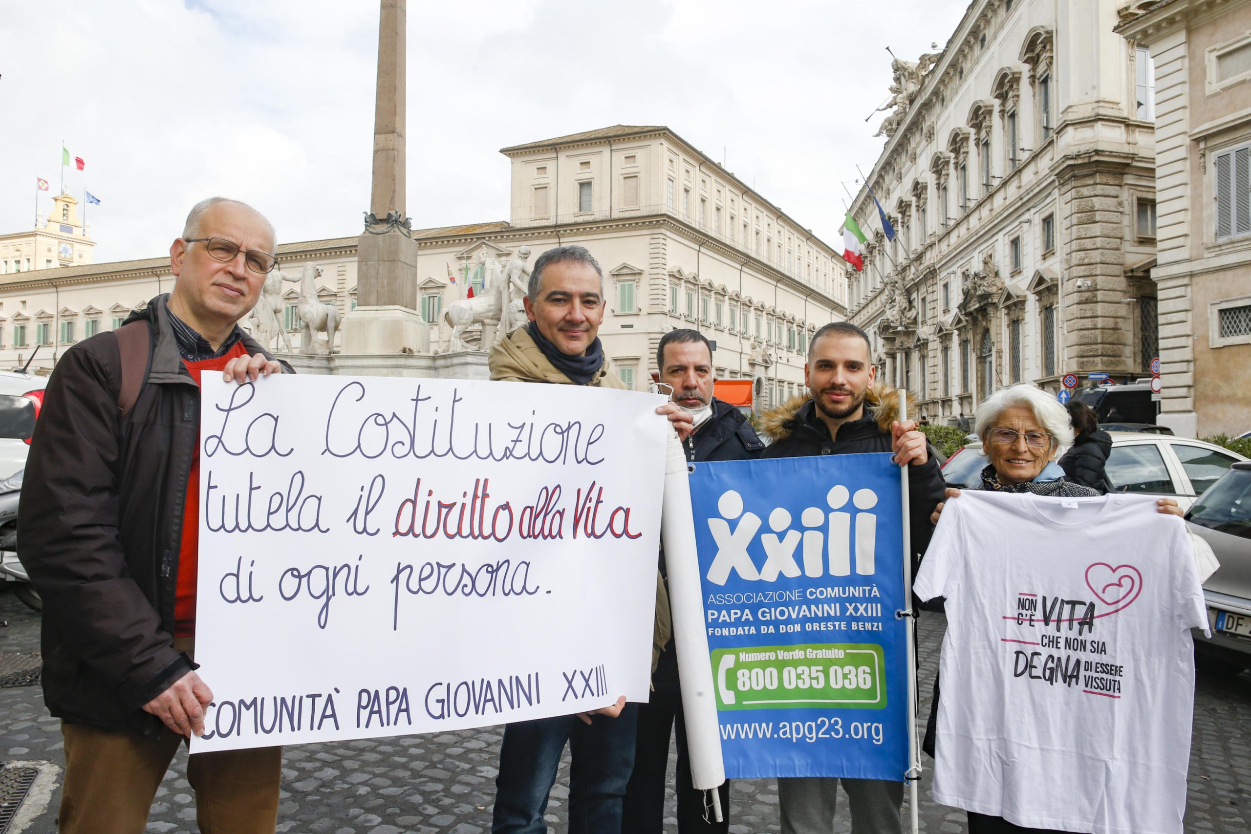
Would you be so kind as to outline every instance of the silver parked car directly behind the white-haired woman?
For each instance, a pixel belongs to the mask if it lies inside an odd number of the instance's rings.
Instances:
[[[1113,491],[1167,495],[1190,509],[1242,455],[1202,440],[1162,434],[1112,431],[1112,454],[1105,466]],[[968,444],[956,451],[942,469],[948,486],[963,488],[977,483],[986,466],[981,444]]]

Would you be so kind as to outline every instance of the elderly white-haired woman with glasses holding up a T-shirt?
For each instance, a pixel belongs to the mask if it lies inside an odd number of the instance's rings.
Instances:
[[[975,433],[982,440],[982,449],[990,464],[982,469],[981,483],[968,489],[987,489],[1002,493],[1032,493],[1057,498],[1086,498],[1100,495],[1098,490],[1075,484],[1065,478],[1051,479],[1043,474],[1056,454],[1073,443],[1073,429],[1068,411],[1055,398],[1033,385],[1021,384],[1005,388],[986,399],[977,409]],[[946,498],[960,495],[958,489],[947,489]],[[945,501],[946,503],[946,501]],[[1181,515],[1181,508],[1171,498],[1156,501],[1160,513]],[[943,504],[938,504],[929,520],[938,523]],[[938,680],[934,680],[933,708],[926,725],[922,744],[926,753],[934,754],[934,724],[938,714]],[[1050,834],[1045,829],[1022,828],[1002,816],[990,816],[968,811],[970,834]]]

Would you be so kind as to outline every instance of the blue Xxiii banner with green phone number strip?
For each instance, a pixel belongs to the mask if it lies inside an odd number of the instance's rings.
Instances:
[[[903,780],[903,510],[888,454],[691,475],[726,776]]]

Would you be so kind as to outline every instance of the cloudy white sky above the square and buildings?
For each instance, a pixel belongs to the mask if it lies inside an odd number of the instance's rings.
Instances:
[[[415,226],[508,219],[507,145],[668,125],[833,243],[877,158],[891,46],[946,44],[961,0],[408,3]],[[355,235],[369,203],[375,0],[3,0],[0,231],[68,169],[96,261],[164,254],[210,194],[280,241]],[[724,151],[723,151],[724,149]],[[50,194],[41,195],[48,211]]]

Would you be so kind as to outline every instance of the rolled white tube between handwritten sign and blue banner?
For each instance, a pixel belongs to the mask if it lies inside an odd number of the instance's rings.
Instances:
[[[682,715],[687,723],[691,783],[698,790],[712,793],[713,818],[719,823],[723,815],[717,788],[726,781],[726,764],[721,755],[721,724],[717,720],[708,634],[703,624],[687,455],[678,435],[672,431],[664,456],[661,541],[669,576],[669,610],[673,615],[674,649],[678,653],[678,679],[682,681]]]

